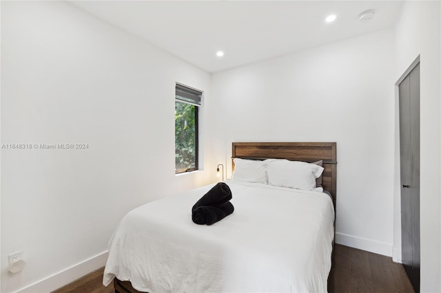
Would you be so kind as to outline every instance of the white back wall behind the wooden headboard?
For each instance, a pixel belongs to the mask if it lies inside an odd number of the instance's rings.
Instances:
[[[391,30],[214,74],[214,155],[229,162],[237,141],[337,142],[336,241],[391,255],[392,77]]]

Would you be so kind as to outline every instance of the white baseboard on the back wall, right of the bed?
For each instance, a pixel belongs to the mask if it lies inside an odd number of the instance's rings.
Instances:
[[[392,257],[392,244],[336,232],[336,243]]]

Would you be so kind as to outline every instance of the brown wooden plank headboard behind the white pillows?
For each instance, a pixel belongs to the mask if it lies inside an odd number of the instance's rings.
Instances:
[[[322,186],[331,193],[334,206],[336,206],[336,142],[233,142],[232,157],[250,160],[287,159],[303,162],[323,160],[325,170],[322,173]]]

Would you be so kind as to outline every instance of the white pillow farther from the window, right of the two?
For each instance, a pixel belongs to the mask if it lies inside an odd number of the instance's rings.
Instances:
[[[271,160],[267,162],[268,184],[314,190],[316,178],[322,175],[323,167],[307,162],[289,160]]]

